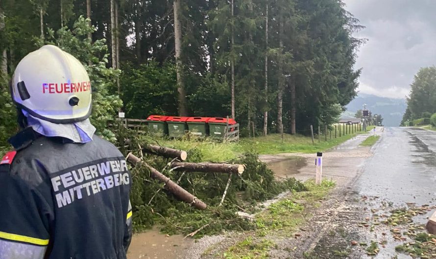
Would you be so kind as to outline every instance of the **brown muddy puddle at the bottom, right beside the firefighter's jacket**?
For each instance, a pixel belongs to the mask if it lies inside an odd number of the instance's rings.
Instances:
[[[182,235],[168,237],[152,229],[133,236],[127,259],[177,258],[193,243],[193,239],[183,239]]]

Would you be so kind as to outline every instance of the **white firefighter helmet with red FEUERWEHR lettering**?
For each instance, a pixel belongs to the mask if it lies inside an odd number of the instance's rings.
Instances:
[[[27,54],[17,65],[10,87],[17,107],[37,118],[65,124],[91,114],[91,82],[85,67],[54,45]]]

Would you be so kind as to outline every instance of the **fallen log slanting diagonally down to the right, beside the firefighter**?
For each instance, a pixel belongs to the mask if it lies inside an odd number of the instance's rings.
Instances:
[[[174,194],[177,198],[179,198],[179,199],[181,199],[189,204],[192,204],[197,209],[200,209],[200,210],[206,209],[207,205],[204,202],[202,202],[200,199],[195,197],[193,194],[190,194],[188,191],[186,191],[185,189],[180,187],[178,184],[173,182],[167,176],[163,175],[162,173],[160,173],[156,169],[152,168],[147,163],[141,161],[141,159],[139,159],[138,157],[136,157],[132,153],[127,155],[126,160],[133,165],[141,164],[141,165],[145,166],[145,168],[147,168],[150,171],[151,178],[156,179],[162,183],[165,183],[165,189],[170,191],[170,193]]]

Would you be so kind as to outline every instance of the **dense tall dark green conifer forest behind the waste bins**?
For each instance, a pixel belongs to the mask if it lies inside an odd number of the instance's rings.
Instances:
[[[283,125],[291,132],[292,120],[301,133],[331,124],[356,96],[361,70],[353,66],[364,41],[352,33],[362,26],[342,0],[176,1],[1,1],[1,87],[24,55],[49,43],[86,65],[101,132],[119,107],[130,118],[176,115],[180,82],[189,115],[231,115],[234,99],[242,126],[262,129],[267,114],[268,131]],[[0,127],[15,127],[6,117],[13,117],[7,96],[0,98]],[[416,103],[411,111],[427,105]]]

